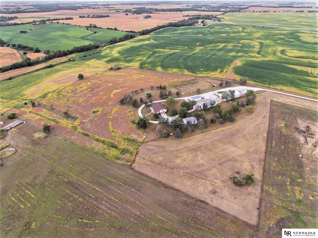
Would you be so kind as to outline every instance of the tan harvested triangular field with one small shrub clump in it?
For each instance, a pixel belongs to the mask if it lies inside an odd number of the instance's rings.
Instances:
[[[233,124],[185,139],[169,137],[146,142],[140,147],[133,168],[257,225],[272,97],[293,105],[305,102],[316,107],[301,99],[261,93],[254,112]],[[229,179],[236,171],[242,175],[253,173],[256,183],[237,187]]]

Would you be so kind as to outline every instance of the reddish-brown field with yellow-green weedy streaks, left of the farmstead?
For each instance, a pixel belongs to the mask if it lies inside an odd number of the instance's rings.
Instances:
[[[70,78],[73,83],[38,99],[39,106],[35,108],[21,108],[18,114],[38,126],[50,123],[52,129],[77,144],[125,163],[132,162],[145,134],[131,123],[135,119],[134,108],[130,104],[119,106],[119,100],[137,90],[134,97],[139,102],[140,97],[146,98],[150,85],[168,85],[193,78],[140,69],[105,70],[100,67],[98,72],[96,69],[93,74],[83,72],[84,79],[74,80],[78,73],[65,73],[60,79],[66,82]],[[56,84],[56,80],[52,78],[46,83]],[[40,88],[29,90],[29,93],[34,93],[33,90]],[[63,114],[66,110],[70,117]]]

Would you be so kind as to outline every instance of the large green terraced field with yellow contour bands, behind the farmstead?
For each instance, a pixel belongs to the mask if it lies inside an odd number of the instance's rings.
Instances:
[[[170,27],[86,59],[214,77],[233,66],[238,78],[318,97],[318,35],[313,24],[311,30],[224,23]]]

